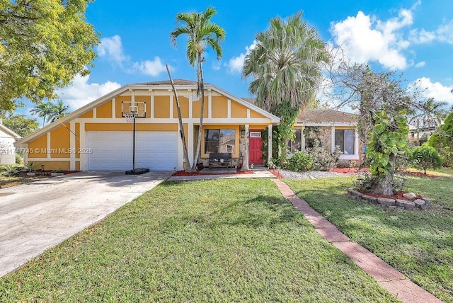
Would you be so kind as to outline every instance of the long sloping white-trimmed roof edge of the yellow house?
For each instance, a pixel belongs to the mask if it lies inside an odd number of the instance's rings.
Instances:
[[[184,80],[184,79],[176,79],[173,80],[173,83],[175,84],[176,90],[196,90],[197,89],[197,82],[196,81],[190,81],[190,80]],[[178,83],[178,84],[177,84]],[[16,144],[24,144],[27,143],[37,137],[40,137],[41,135],[44,135],[47,132],[50,132],[51,130],[55,130],[57,127],[60,127],[60,125],[69,122],[75,118],[78,118],[81,115],[84,115],[85,113],[88,113],[90,110],[93,108],[97,108],[100,105],[103,105],[103,103],[106,103],[110,101],[113,98],[116,98],[117,96],[121,96],[123,93],[126,91],[133,91],[133,90],[152,90],[152,89],[158,89],[158,90],[169,90],[171,91],[171,82],[169,80],[167,81],[154,81],[154,82],[145,82],[145,83],[139,83],[139,84],[127,84],[125,86],[122,86],[120,88],[115,89],[115,91],[111,91],[110,93],[102,96],[101,98],[96,99],[95,101],[92,101],[91,103],[88,103],[81,108],[74,110],[74,112],[70,113],[69,115],[65,115],[63,118],[50,123],[49,125],[46,125],[45,127],[42,127],[40,130],[37,130],[36,132],[33,132],[33,134],[28,135],[27,137],[24,137],[22,139],[19,139]],[[268,113],[266,110],[263,110],[262,108],[259,108],[256,105],[253,105],[252,103],[248,103],[246,101],[243,101],[243,99],[238,98],[234,95],[231,95],[231,93],[228,93],[224,91],[221,88],[218,88],[217,86],[214,86],[212,84],[206,84],[205,83],[205,90],[207,91],[217,91],[218,93],[221,93],[223,96],[226,96],[227,98],[236,101],[237,103],[240,103],[247,108],[250,108],[251,110],[255,110],[257,113],[260,113],[261,115],[265,116],[266,118],[269,118],[274,124],[277,124],[280,122],[280,118],[277,116]]]

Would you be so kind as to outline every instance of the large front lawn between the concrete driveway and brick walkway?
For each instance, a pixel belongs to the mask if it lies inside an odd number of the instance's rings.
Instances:
[[[0,302],[393,302],[270,180],[162,183],[0,279]]]

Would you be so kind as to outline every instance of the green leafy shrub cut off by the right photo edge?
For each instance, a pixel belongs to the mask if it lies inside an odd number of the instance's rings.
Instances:
[[[437,149],[445,166],[453,167],[453,111],[426,144]]]

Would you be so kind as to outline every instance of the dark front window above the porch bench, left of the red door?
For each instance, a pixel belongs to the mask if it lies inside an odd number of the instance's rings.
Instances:
[[[205,154],[230,152],[234,154],[236,130],[205,130]]]

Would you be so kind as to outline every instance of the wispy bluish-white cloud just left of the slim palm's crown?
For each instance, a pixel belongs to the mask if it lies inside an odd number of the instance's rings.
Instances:
[[[159,76],[159,74],[166,71],[165,64],[162,63],[161,58],[158,56],[154,57],[154,60],[132,62],[130,56],[125,55],[122,49],[121,37],[119,35],[102,38],[97,50],[99,57],[104,57],[113,66],[118,66],[129,74],[139,72],[150,76]]]

